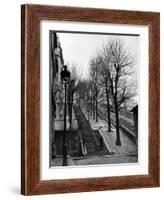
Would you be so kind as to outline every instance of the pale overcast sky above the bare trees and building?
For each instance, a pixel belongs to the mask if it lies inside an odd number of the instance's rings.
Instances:
[[[83,78],[88,77],[89,59],[110,39],[121,39],[129,51],[138,58],[139,37],[127,35],[101,35],[57,33],[63,49],[64,64],[76,63]]]

